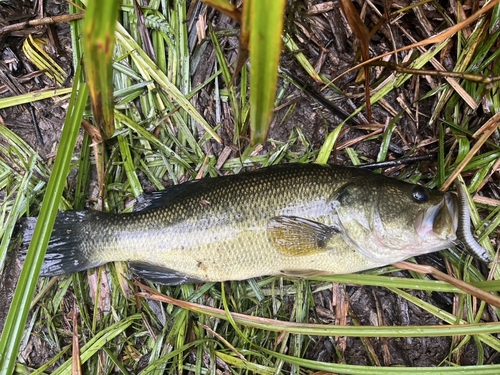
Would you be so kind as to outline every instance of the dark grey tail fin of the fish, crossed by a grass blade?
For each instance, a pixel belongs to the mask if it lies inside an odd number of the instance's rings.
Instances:
[[[93,217],[93,211],[65,211],[57,215],[40,276],[80,272],[103,264],[92,259],[91,252],[86,250],[85,238],[89,234],[85,234],[85,226]],[[36,217],[24,218],[19,223],[22,260],[26,257],[36,223]]]

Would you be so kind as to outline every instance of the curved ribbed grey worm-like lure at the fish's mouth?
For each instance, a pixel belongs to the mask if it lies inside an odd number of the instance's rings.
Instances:
[[[479,245],[472,235],[470,226],[470,211],[469,204],[467,203],[467,193],[465,186],[458,179],[455,180],[455,187],[458,193],[458,226],[457,226],[457,241],[456,245],[462,245],[469,252],[469,254],[479,258],[485,263],[491,262],[491,256],[488,251]]]

